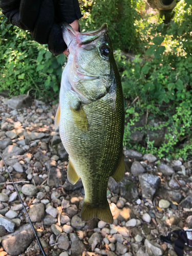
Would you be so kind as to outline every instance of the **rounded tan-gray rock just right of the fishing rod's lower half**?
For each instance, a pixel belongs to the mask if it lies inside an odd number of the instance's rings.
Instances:
[[[28,215],[32,222],[41,222],[45,216],[45,205],[43,203],[32,204],[29,207]]]

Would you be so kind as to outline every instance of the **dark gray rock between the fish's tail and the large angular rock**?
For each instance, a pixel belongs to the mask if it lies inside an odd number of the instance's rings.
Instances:
[[[136,200],[138,198],[137,185],[124,177],[120,182],[120,196],[129,202]]]

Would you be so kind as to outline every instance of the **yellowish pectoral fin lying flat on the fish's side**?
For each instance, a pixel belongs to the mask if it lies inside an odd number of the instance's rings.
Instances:
[[[88,131],[88,119],[86,113],[84,113],[84,110],[81,106],[81,102],[72,101],[70,108],[72,111],[73,120],[77,128],[82,130],[83,132]]]

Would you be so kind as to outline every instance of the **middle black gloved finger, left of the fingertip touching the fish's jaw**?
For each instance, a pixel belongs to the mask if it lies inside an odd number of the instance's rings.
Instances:
[[[47,44],[49,33],[54,23],[54,5],[50,0],[43,0],[34,30],[31,32],[35,41],[39,44]]]

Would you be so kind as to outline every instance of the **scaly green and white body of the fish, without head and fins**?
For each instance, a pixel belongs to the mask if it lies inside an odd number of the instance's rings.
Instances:
[[[105,207],[109,177],[122,155],[124,112],[120,80],[114,81],[112,87],[103,98],[83,106],[89,123],[87,132],[78,129],[72,118],[69,106],[73,94],[65,92],[65,100],[60,101],[61,140],[82,179],[85,200],[92,207]]]

